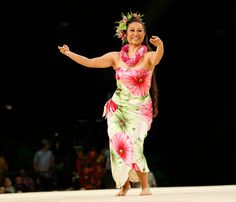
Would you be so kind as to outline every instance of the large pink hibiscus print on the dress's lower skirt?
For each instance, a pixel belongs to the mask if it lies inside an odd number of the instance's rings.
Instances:
[[[131,166],[133,160],[133,143],[130,137],[122,132],[116,133],[110,139],[110,142],[123,161]]]

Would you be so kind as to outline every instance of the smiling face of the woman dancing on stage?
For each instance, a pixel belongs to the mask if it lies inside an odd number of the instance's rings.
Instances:
[[[131,22],[127,29],[127,41],[129,44],[140,45],[145,37],[143,25],[139,22]]]

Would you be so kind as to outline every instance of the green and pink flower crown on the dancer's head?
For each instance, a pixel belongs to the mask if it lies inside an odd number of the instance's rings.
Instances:
[[[127,30],[127,23],[133,19],[136,18],[138,19],[138,21],[142,22],[142,17],[144,16],[143,14],[141,15],[140,13],[132,13],[132,12],[128,12],[127,15],[125,15],[124,13],[121,13],[122,16],[122,20],[115,22],[118,23],[118,25],[115,27],[116,28],[116,33],[115,36],[118,37],[119,39],[122,40],[122,44],[124,44],[127,40],[126,40],[126,34],[125,31]]]

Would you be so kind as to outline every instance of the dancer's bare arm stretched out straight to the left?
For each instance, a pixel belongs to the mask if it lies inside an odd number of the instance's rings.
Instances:
[[[70,51],[67,45],[58,46],[60,52],[75,62],[91,68],[107,68],[114,66],[114,52],[106,53],[100,57],[87,58],[85,56],[79,55]]]

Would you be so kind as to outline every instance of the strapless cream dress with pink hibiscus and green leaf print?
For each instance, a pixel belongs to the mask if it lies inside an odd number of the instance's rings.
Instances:
[[[116,68],[117,89],[104,106],[110,143],[111,169],[116,187],[127,179],[139,181],[135,170],[149,172],[143,153],[144,139],[152,123],[149,94],[152,71]]]

